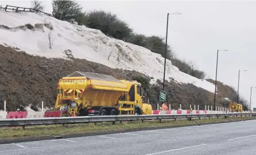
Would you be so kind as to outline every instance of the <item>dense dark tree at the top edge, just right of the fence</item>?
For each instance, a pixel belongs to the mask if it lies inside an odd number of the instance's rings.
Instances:
[[[52,15],[61,21],[77,22],[77,15],[82,13],[82,7],[75,1],[52,1]]]

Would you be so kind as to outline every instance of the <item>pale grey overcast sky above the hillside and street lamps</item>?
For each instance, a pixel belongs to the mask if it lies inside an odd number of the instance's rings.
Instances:
[[[77,1],[84,11],[106,10],[126,21],[137,33],[165,37],[169,16],[168,44],[181,59],[195,61],[207,77],[215,79],[217,50],[218,81],[238,88],[250,102],[256,86],[256,1]],[[1,5],[30,7],[30,1],[1,1]],[[51,1],[44,2],[52,13]],[[252,94],[256,108],[256,88]]]

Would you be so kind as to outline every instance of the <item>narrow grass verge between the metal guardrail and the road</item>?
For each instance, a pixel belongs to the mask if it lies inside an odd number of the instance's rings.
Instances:
[[[255,117],[228,117],[228,118],[205,118],[205,119],[192,119],[188,120],[162,120],[159,121],[132,121],[132,122],[116,122],[112,125],[112,122],[94,124],[70,124],[65,125],[40,125],[40,126],[26,126],[25,130],[21,127],[18,128],[2,128],[0,129],[0,140],[21,140],[21,139],[32,139],[40,137],[52,137],[52,136],[64,136],[72,137],[76,135],[90,136],[100,133],[115,133],[115,132],[126,132],[133,130],[145,130],[145,129],[158,129],[158,128],[173,128],[177,126],[189,126],[199,124],[214,124],[220,122],[231,122],[231,121],[245,121],[255,120]]]

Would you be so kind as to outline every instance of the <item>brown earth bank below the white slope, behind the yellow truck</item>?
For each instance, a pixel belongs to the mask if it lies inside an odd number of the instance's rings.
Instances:
[[[54,108],[59,79],[76,70],[113,75],[127,80],[132,80],[134,75],[146,77],[137,71],[111,69],[85,59],[49,59],[0,45],[0,109],[3,109],[4,100],[7,101],[8,111],[18,108],[22,110],[29,104],[32,104],[32,109],[37,110],[41,101],[44,101],[45,106]],[[201,108],[213,104],[213,93],[191,84],[182,85],[168,81],[165,88],[168,92],[168,104],[172,108],[177,109],[180,104],[183,104],[184,109],[189,104],[199,104]],[[156,109],[156,105],[161,104],[158,100],[162,84],[158,81],[149,87],[149,101]],[[218,96],[218,101],[221,98]]]

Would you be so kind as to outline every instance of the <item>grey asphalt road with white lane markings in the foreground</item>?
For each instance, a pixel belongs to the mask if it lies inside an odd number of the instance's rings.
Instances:
[[[256,120],[0,145],[6,154],[255,154]]]

